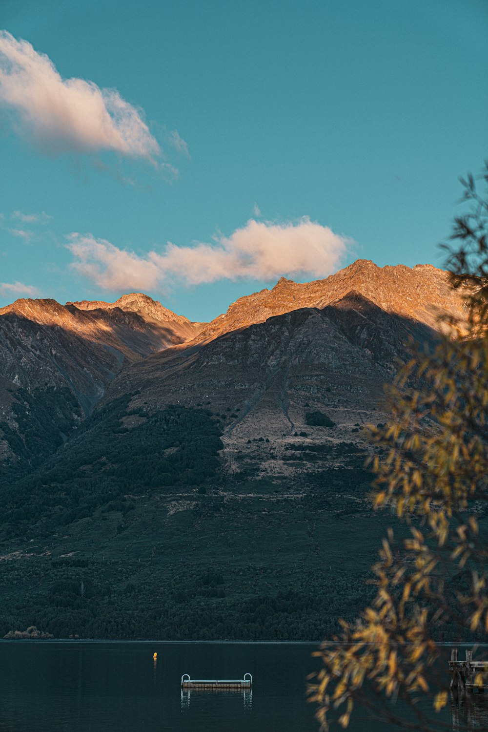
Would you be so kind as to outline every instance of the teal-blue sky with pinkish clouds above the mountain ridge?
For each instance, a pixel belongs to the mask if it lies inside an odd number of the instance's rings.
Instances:
[[[0,0],[0,306],[443,266],[486,0]]]

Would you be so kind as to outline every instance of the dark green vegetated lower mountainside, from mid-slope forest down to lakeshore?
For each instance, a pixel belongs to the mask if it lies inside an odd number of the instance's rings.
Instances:
[[[357,447],[310,444],[343,465],[325,479],[277,484],[252,469],[228,482],[215,415],[148,414],[131,397],[97,408],[66,442],[47,430],[44,449],[58,451],[42,465],[4,471],[0,637],[36,625],[57,638],[316,640],[369,600],[326,550],[369,511]],[[22,409],[23,431],[42,436]],[[301,457],[301,443],[287,454]]]

